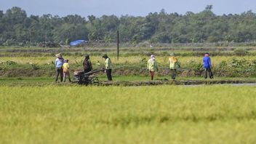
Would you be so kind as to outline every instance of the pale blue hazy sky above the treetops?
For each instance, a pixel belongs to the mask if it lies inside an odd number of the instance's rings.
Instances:
[[[201,12],[212,4],[216,15],[256,12],[256,0],[0,0],[0,10],[21,7],[28,15],[133,15],[145,16],[149,12],[167,13]]]

